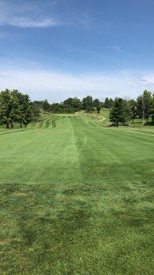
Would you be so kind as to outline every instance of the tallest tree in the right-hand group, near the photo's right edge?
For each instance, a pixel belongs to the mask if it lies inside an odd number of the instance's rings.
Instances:
[[[137,114],[143,120],[143,124],[148,122],[151,115],[151,91],[145,90],[142,95],[137,98]]]

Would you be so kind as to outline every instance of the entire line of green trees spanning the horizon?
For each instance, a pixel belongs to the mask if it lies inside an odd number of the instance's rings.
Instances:
[[[101,108],[110,109],[109,120],[115,126],[119,124],[129,125],[136,118],[141,118],[143,124],[148,120],[154,124],[154,94],[145,90],[137,97],[137,100],[125,100],[122,98],[105,98],[100,102],[98,98],[86,96],[83,100],[79,98],[67,98],[61,103],[50,104],[47,100],[35,100],[32,102],[28,94],[22,94],[17,89],[12,91],[5,89],[0,92],[0,123],[6,128],[14,128],[14,123],[27,126],[33,120],[39,121],[41,111],[45,113],[76,113],[84,110],[87,113],[97,111]]]

